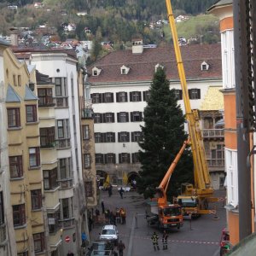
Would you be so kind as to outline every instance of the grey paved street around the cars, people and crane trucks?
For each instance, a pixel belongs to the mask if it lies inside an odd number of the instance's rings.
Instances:
[[[118,224],[119,240],[125,242],[125,256],[142,256],[142,255],[177,255],[177,256],[217,256],[218,241],[221,230],[226,223],[225,209],[222,203],[218,203],[218,219],[214,215],[204,215],[201,218],[190,221],[184,221],[180,230],[172,230],[168,237],[168,250],[162,250],[161,232],[153,227],[148,227],[145,221],[145,208],[143,206],[143,196],[137,195],[136,192],[126,192],[124,199],[121,199],[117,190],[113,189],[113,195],[108,197],[107,191],[101,192],[101,198],[105,203],[105,208],[110,211],[115,207],[125,207],[126,224]],[[219,193],[218,193],[219,194]],[[224,195],[224,191],[220,192]],[[101,209],[101,207],[98,207]],[[134,215],[137,212],[137,227]],[[97,239],[103,224],[96,224],[90,232],[90,239]],[[151,235],[156,231],[160,237],[160,251],[154,252],[151,242]]]

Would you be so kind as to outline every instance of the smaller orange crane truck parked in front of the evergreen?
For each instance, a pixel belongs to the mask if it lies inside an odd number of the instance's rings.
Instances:
[[[160,229],[164,230],[173,227],[177,227],[177,229],[179,229],[183,226],[182,207],[177,203],[170,204],[167,201],[166,190],[172,177],[172,173],[177,166],[177,162],[188,143],[189,141],[185,141],[183,143],[182,148],[180,148],[175,159],[172,161],[165,177],[162,179],[159,187],[156,188],[156,197],[147,202],[146,220],[148,225],[156,225]]]

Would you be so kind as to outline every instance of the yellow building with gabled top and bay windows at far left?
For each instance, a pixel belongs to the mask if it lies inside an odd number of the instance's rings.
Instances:
[[[3,51],[10,204],[17,255],[46,255],[35,69]],[[15,254],[13,254],[15,255]]]

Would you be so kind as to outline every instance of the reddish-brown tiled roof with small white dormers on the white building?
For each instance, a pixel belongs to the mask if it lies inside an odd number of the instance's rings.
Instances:
[[[181,52],[186,79],[222,77],[220,44],[186,45],[181,47]],[[210,65],[207,71],[201,71],[203,61]],[[143,54],[140,55],[133,55],[131,49],[111,52],[91,64],[87,70],[91,73],[93,67],[102,68],[99,76],[90,76],[90,83],[152,80],[154,67],[158,63],[165,67],[167,79],[179,79],[173,46],[143,49]],[[123,65],[131,67],[128,74],[120,73]]]

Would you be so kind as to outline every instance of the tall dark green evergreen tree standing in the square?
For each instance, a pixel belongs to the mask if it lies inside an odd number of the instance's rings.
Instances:
[[[145,198],[153,197],[154,189],[160,185],[177,152],[183,146],[187,134],[184,131],[184,116],[177,105],[174,90],[163,68],[154,73],[148,106],[144,109],[143,149],[139,152],[142,164],[137,180],[138,193]],[[189,150],[185,150],[173,172],[167,195],[177,195],[183,182],[193,182],[193,160]]]

